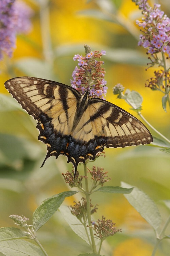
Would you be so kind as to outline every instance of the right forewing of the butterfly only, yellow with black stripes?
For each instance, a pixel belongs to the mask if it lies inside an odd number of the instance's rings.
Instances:
[[[90,99],[89,114],[94,138],[99,147],[126,147],[153,141],[145,125],[111,102]]]

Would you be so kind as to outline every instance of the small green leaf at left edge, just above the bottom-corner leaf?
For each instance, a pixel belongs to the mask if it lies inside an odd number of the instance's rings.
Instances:
[[[28,238],[19,228],[4,227],[0,228],[0,241],[12,240],[17,238]]]

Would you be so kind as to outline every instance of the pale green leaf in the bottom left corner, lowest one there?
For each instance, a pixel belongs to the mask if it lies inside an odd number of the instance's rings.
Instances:
[[[44,256],[37,245],[22,239],[1,241],[0,252],[6,256]]]

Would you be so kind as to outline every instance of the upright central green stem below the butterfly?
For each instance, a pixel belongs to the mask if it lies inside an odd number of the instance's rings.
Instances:
[[[84,175],[87,176],[87,167],[86,163],[84,164]],[[89,187],[88,187],[88,179],[85,179],[85,190],[86,190],[86,202],[87,202],[87,218],[88,218],[88,225],[91,226],[91,208],[90,208],[90,193],[89,193]],[[94,234],[92,228],[89,228],[90,231],[90,237],[91,237],[91,247],[93,250],[93,253],[97,253],[96,251],[96,244],[94,239]]]

